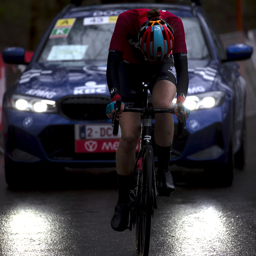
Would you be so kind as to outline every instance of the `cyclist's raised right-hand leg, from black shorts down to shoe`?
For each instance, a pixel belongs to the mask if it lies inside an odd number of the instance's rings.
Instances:
[[[170,68],[171,67],[171,68]],[[176,94],[176,76],[174,65],[167,62],[161,66],[156,75],[156,83],[152,90],[154,108],[171,108]],[[161,80],[159,80],[159,78]],[[174,124],[173,117],[167,113],[155,114],[155,142],[158,155],[158,192],[169,195],[174,192],[172,176],[169,171],[170,153],[172,149]]]

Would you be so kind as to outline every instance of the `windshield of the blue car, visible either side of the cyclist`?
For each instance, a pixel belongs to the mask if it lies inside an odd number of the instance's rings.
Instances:
[[[116,19],[117,16],[59,19],[38,62],[83,66],[85,61],[106,61]],[[209,59],[210,55],[198,20],[184,17],[181,19],[185,30],[188,59]]]

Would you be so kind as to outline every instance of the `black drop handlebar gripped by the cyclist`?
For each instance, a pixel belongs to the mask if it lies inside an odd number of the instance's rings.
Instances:
[[[121,99],[117,99],[116,104],[114,106],[115,111],[113,114],[113,118],[112,118],[112,127],[113,127],[113,135],[117,135],[118,134],[118,129],[119,129],[119,120],[116,120],[116,116],[117,113],[120,112],[120,108],[121,108]],[[185,114],[184,114],[184,107],[182,105],[181,101],[177,102],[177,106],[178,106],[178,113],[181,116],[181,121],[178,120],[178,132],[177,132],[177,136],[180,138],[184,132],[184,130],[186,129],[186,118],[185,118]],[[124,112],[137,112],[137,113],[148,113],[148,114],[156,114],[156,113],[170,113],[170,114],[174,114],[174,109],[157,109],[157,108],[124,108]]]

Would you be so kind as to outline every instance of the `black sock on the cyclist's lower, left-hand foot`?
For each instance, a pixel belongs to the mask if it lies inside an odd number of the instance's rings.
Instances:
[[[118,180],[118,202],[126,204],[129,202],[129,192],[131,187],[133,175],[119,175],[117,174]]]

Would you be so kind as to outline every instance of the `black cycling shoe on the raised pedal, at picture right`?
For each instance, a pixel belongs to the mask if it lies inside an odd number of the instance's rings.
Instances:
[[[170,193],[175,191],[173,184],[173,177],[170,170],[158,171],[158,195],[159,196],[170,196]]]

